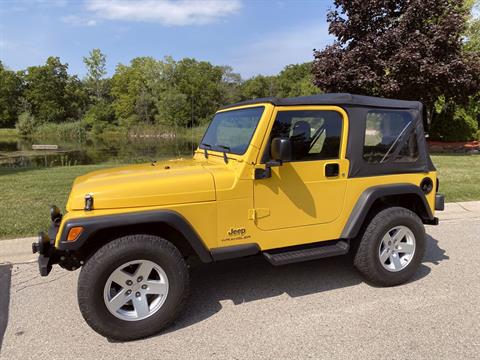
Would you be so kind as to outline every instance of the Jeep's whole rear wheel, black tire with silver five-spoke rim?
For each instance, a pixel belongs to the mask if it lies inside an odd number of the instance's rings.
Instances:
[[[367,225],[355,254],[355,267],[370,282],[394,286],[408,281],[425,252],[425,228],[414,212],[391,207]]]

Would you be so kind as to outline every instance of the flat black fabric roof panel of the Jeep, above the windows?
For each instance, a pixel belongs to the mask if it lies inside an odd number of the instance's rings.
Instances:
[[[406,101],[396,99],[386,99],[374,96],[353,95],[348,93],[328,93],[312,96],[300,96],[294,98],[276,98],[267,97],[253,100],[245,100],[236,104],[223,107],[228,109],[242,105],[252,105],[260,103],[270,103],[276,106],[295,106],[295,105],[351,105],[368,106],[394,109],[414,109],[422,112],[422,103],[419,101]]]

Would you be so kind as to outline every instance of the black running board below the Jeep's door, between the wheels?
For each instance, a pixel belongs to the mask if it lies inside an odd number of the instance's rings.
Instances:
[[[348,253],[350,245],[346,241],[339,240],[336,243],[328,245],[318,245],[304,249],[291,249],[282,251],[264,251],[263,256],[270,264],[278,266],[292,264],[296,262],[316,260],[331,256],[345,255]]]

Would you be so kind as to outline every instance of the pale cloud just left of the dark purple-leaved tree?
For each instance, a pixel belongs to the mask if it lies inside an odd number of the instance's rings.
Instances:
[[[312,61],[314,48],[320,50],[333,42],[326,22],[259,36],[230,54],[229,64],[243,77],[273,75],[286,65]]]

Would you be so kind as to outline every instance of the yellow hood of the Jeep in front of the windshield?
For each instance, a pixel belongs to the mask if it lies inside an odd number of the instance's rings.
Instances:
[[[198,160],[170,160],[94,171],[78,177],[67,211],[82,210],[85,195],[94,209],[113,209],[214,201],[213,176]]]

